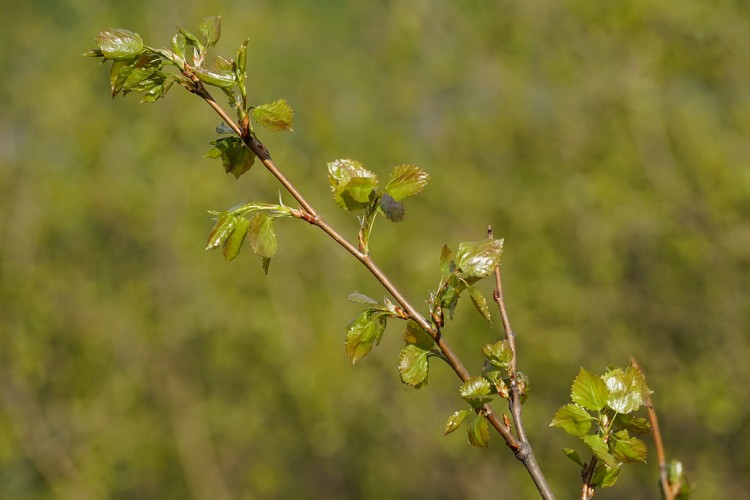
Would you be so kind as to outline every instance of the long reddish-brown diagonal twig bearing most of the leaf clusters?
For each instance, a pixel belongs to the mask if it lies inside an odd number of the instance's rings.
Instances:
[[[407,312],[409,318],[416,321],[419,326],[432,336],[435,340],[440,351],[443,353],[445,360],[448,362],[450,367],[458,375],[462,382],[468,380],[471,375],[463,363],[459,360],[458,356],[453,352],[448,343],[442,337],[440,331],[430,323],[425,316],[420,314],[417,309],[401,294],[391,280],[383,273],[383,271],[373,262],[372,258],[361,252],[357,247],[352,245],[348,240],[341,236],[335,229],[328,225],[312,208],[312,206],[305,200],[294,185],[284,176],[284,174],[276,167],[268,149],[251,133],[243,134],[240,127],[232,120],[229,115],[219,106],[216,101],[211,97],[208,91],[205,89],[203,84],[198,81],[195,83],[195,89],[190,89],[191,92],[202,97],[209,106],[229,125],[232,130],[245,142],[245,145],[261,160],[263,165],[266,167],[271,174],[284,186],[284,188],[294,197],[295,200],[300,204],[302,210],[292,210],[292,215],[309,222],[310,224],[317,226],[323,232],[328,234],[336,243],[346,249],[352,254],[362,265],[364,265],[370,273],[375,277],[378,282],[393,296],[396,302]],[[304,211],[303,211],[304,210]],[[513,343],[515,346],[515,343]],[[515,347],[513,347],[515,352]],[[514,355],[515,359],[515,355]],[[515,372],[514,372],[515,373]],[[515,383],[513,384],[515,386]],[[518,401],[518,407],[520,408],[520,395],[518,394],[518,388],[515,386],[516,400]],[[488,404],[483,405],[481,409],[482,414],[485,415],[487,420],[497,430],[497,432],[503,437],[507,446],[513,451],[516,458],[518,458],[526,467],[529,472],[534,484],[539,490],[540,495],[545,500],[554,499],[554,495],[547,484],[544,475],[542,474],[541,468],[536,461],[533,450],[529,446],[527,441],[519,442],[518,439],[513,435],[508,426],[505,425],[503,420],[493,411],[492,407]],[[515,416],[514,416],[515,418]],[[520,413],[518,414],[520,421]],[[516,423],[518,429],[518,424]],[[522,429],[522,427],[521,427]],[[523,435],[523,433],[521,433]],[[525,435],[524,435],[525,439]]]

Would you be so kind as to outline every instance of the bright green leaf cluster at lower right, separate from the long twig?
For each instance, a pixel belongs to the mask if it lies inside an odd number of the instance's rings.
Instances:
[[[610,369],[602,376],[581,368],[571,388],[572,403],[557,410],[550,426],[581,439],[596,457],[592,487],[612,486],[623,464],[646,461],[646,443],[634,436],[647,434],[650,426],[633,413],[650,394],[643,374],[633,366]],[[578,452],[563,452],[582,472],[588,469]]]

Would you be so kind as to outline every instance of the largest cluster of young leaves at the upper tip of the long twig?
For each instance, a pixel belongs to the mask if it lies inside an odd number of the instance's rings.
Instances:
[[[255,155],[244,142],[255,134],[250,118],[273,132],[291,131],[294,111],[284,99],[248,107],[245,85],[248,40],[237,49],[235,59],[215,55],[209,63],[209,49],[221,37],[221,16],[204,18],[198,30],[200,36],[178,26],[171,47],[159,49],[145,45],[138,33],[108,28],[96,36],[97,48],[84,56],[112,61],[112,97],[120,92],[123,95],[140,92],[143,93],[143,102],[155,102],[164,97],[175,82],[196,93],[200,93],[197,92],[198,83],[219,88],[236,110],[238,127],[244,137],[222,136],[225,130],[218,129],[220,137],[211,142],[212,148],[206,157],[220,158],[225,172],[239,178],[250,170],[255,160]],[[167,67],[175,68],[177,72],[167,73],[164,71]],[[227,130],[231,132],[231,129]]]

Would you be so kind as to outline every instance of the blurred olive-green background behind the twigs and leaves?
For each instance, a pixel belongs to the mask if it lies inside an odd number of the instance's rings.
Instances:
[[[112,100],[81,54],[106,27],[167,46],[207,15],[219,52],[251,38],[251,100],[296,111],[263,137],[346,234],[327,161],[432,174],[372,246],[413,302],[443,243],[506,238],[527,430],[559,498],[580,477],[555,409],[581,366],[631,355],[695,498],[750,490],[746,2],[29,0],[0,20],[0,497],[535,497],[498,436],[442,437],[458,380],[435,363],[402,385],[401,327],[351,367],[346,296],[383,292],[321,232],[278,224],[268,277],[204,252],[207,210],[279,187],[201,158],[218,120],[197,98]],[[475,372],[495,323],[464,303],[445,330]],[[597,498],[658,498],[653,450]]]

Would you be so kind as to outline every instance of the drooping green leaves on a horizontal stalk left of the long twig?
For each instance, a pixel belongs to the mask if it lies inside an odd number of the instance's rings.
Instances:
[[[206,250],[223,247],[224,260],[230,262],[239,255],[247,239],[253,252],[263,259],[263,270],[268,274],[271,257],[278,248],[273,223],[282,217],[292,217],[289,207],[245,203],[224,212],[210,213],[216,216],[216,223],[208,235]]]

